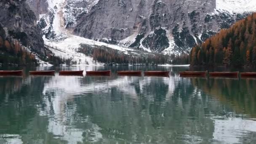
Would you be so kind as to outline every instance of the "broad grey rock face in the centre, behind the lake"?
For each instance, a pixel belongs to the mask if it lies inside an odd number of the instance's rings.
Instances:
[[[133,46],[137,36],[144,35],[136,47],[182,53],[245,16],[216,10],[216,0],[99,0],[74,33],[125,46]]]

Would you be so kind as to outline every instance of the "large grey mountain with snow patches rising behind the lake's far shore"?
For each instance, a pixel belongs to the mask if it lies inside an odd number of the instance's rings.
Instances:
[[[179,54],[256,11],[254,0],[27,0],[46,43],[84,43]],[[79,44],[77,44],[79,45]]]

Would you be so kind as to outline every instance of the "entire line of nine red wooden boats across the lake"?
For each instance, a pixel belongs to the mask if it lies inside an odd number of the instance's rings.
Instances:
[[[22,75],[23,70],[17,71],[0,71],[0,75]],[[144,75],[168,76],[170,71],[146,71]],[[55,75],[55,70],[52,71],[29,71],[30,75]],[[86,71],[86,75],[110,75],[111,71]],[[117,71],[118,75],[141,75],[142,71]],[[223,77],[256,77],[256,72],[179,72],[180,76],[223,76]],[[80,71],[59,71],[59,75],[83,75],[83,70]]]

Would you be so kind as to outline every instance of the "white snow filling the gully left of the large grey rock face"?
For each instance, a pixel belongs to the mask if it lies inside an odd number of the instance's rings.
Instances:
[[[83,53],[77,53],[76,51],[80,48],[80,44],[84,43],[86,45],[91,46],[106,46],[108,48],[112,48],[118,51],[122,51],[125,54],[129,54],[128,52],[135,52],[133,49],[125,48],[123,46],[118,45],[110,45],[107,43],[97,42],[94,40],[89,40],[83,37],[71,35],[67,29],[65,29],[64,25],[64,15],[65,13],[65,5],[67,4],[66,0],[47,0],[49,5],[49,10],[54,11],[54,19],[53,19],[53,31],[56,34],[56,38],[54,40],[48,40],[43,36],[45,41],[45,45],[52,47],[49,48],[56,56],[65,59],[72,59],[73,62],[77,64],[89,64],[89,65],[101,65],[100,63],[95,63],[93,59],[89,56],[85,56]],[[72,0],[71,0],[72,1]],[[93,5],[98,3],[99,0],[88,0],[88,6],[91,8]],[[45,29],[48,30],[50,27],[49,24],[49,16],[47,17],[45,14],[40,15],[40,17],[44,17],[46,22],[48,23],[48,27]],[[42,62],[43,63],[43,62]]]

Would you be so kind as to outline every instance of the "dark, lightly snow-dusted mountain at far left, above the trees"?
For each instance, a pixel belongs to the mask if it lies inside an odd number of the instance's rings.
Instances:
[[[37,18],[24,0],[0,0],[0,13],[1,54],[15,56],[6,53],[4,48],[20,47],[29,53],[36,53],[37,59],[38,56],[46,59],[46,56],[51,55],[51,51],[44,47],[44,40],[37,27]]]

